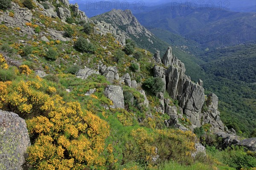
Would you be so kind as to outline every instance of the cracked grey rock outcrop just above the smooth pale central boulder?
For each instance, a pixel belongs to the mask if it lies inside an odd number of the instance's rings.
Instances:
[[[107,67],[106,65],[99,66],[99,73],[106,77],[106,79],[113,83],[114,80],[119,79],[119,74],[116,66]]]

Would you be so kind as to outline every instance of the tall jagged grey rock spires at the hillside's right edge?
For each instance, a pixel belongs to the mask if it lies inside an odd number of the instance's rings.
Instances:
[[[154,55],[154,59],[157,63],[160,63],[159,51]],[[199,80],[198,83],[194,83],[189,76],[185,75],[184,64],[172,54],[171,47],[167,49],[161,61],[167,69],[157,65],[154,66],[154,77],[162,78],[164,88],[169,96],[178,100],[178,109],[181,113],[177,115],[177,109],[169,108],[168,102],[163,101],[160,94],[161,112],[168,113],[171,116],[170,120],[166,120],[167,123],[180,126],[177,118],[184,114],[190,120],[192,128],[200,127],[204,123],[210,123],[212,130],[224,130],[224,124],[221,122],[217,111],[218,97],[215,94],[210,94],[212,103],[205,113],[201,113],[206,98],[202,87],[203,82]]]

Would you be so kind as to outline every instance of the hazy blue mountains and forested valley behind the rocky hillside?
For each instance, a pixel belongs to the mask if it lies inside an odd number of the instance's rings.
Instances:
[[[155,35],[150,46],[147,41],[141,42],[146,37],[131,36],[139,47],[152,53],[160,50],[163,56],[164,48],[174,46],[176,57],[185,64],[186,74],[194,81],[201,78],[206,90],[219,96],[223,122],[248,136],[256,128],[255,1],[205,1],[197,4],[197,8],[194,1],[136,1],[136,6],[134,1],[128,2],[128,9]],[[95,3],[78,3],[88,16],[97,15],[93,18],[114,24],[108,13],[101,15],[111,10],[104,8],[106,1],[97,1],[102,9],[95,8]],[[112,6],[121,8],[121,3]],[[120,25],[119,29],[126,29]]]

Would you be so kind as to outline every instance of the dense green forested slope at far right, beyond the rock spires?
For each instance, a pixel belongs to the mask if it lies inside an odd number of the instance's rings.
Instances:
[[[201,65],[207,91],[219,97],[221,120],[249,136],[256,128],[256,45],[237,45],[207,51]]]

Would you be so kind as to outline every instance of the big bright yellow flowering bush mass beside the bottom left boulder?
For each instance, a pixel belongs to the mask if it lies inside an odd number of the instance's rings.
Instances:
[[[113,159],[111,145],[103,155],[108,123],[82,111],[79,102],[64,102],[45,80],[0,82],[0,109],[33,117],[26,121],[32,142],[27,161],[35,169],[84,169]]]

